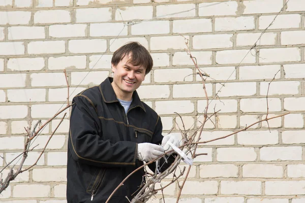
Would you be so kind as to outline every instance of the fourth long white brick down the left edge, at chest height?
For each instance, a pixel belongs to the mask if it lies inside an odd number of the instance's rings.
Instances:
[[[27,106],[0,106],[0,119],[25,118],[27,116]]]

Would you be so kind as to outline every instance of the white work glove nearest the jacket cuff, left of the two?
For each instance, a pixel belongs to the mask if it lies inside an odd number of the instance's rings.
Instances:
[[[139,143],[137,151],[137,159],[140,161],[151,161],[164,153],[164,148],[151,144],[151,143]]]

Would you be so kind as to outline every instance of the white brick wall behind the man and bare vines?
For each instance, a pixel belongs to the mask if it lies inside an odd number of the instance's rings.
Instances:
[[[286,2],[0,0],[0,155],[10,161],[22,152],[30,105],[32,118],[42,122],[66,106],[64,70],[71,101],[111,75],[113,52],[130,41],[140,42],[154,59],[138,93],[162,117],[164,134],[172,128],[179,134],[174,112],[195,133],[206,100],[183,35],[210,76],[204,77],[208,116],[220,110],[205,124],[201,142],[264,119],[268,83],[279,70],[268,92],[268,117],[290,114],[270,120],[271,132],[262,122],[200,144],[196,153],[207,155],[194,159],[179,202],[304,202],[305,2],[290,0],[261,36]],[[66,112],[38,166],[0,195],[4,203],[66,202]],[[43,129],[26,165],[34,163],[62,116]],[[177,183],[164,192],[165,202],[176,202]],[[152,202],[163,202],[161,193]]]

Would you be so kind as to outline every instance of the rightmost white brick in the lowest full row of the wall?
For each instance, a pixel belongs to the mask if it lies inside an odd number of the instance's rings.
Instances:
[[[305,181],[266,181],[265,195],[302,195]]]

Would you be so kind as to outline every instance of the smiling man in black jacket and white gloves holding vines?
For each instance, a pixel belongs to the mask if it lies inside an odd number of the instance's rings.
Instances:
[[[113,78],[73,98],[67,167],[69,203],[105,202],[143,161],[171,150],[168,142],[179,145],[175,137],[162,136],[160,117],[136,92],[152,67],[148,51],[131,42],[114,52]],[[173,156],[167,158],[170,164]],[[161,170],[168,164],[161,159]],[[154,171],[156,163],[149,167]],[[129,202],[143,185],[143,175],[143,169],[133,174],[110,202]]]

